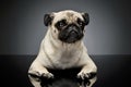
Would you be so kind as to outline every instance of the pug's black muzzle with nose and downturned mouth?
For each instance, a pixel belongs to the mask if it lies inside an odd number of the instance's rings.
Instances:
[[[63,42],[72,44],[82,39],[82,29],[78,26],[69,26],[59,33],[59,39]]]

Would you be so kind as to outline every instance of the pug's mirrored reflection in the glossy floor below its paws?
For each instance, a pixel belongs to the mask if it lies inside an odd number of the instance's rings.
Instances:
[[[38,77],[36,75],[31,74],[32,82],[34,86],[37,87],[92,87],[96,82],[96,74],[92,74],[91,78],[78,78],[76,73],[81,69],[72,69],[72,70],[49,70],[55,74],[55,78],[47,77]]]

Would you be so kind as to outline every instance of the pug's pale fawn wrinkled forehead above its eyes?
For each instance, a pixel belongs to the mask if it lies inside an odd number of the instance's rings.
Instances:
[[[81,18],[83,21],[82,14],[79,12],[73,12],[73,11],[63,11],[63,12],[58,12],[55,13],[55,23],[61,20],[67,20],[68,23],[75,22],[78,18]]]

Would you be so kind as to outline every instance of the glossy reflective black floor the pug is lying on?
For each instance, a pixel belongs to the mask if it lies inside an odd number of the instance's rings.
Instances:
[[[2,87],[33,87],[28,80],[27,71],[35,57],[0,55],[0,84]],[[131,87],[131,55],[91,57],[98,67],[97,82],[93,87]],[[45,80],[41,86],[79,87],[78,84],[87,83],[75,79],[71,72],[78,72],[78,70],[59,71],[56,79]]]

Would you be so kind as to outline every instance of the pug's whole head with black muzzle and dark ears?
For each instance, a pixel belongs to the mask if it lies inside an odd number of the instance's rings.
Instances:
[[[67,10],[46,14],[44,23],[51,28],[52,36],[62,42],[72,44],[84,36],[84,27],[88,24],[88,14]]]

